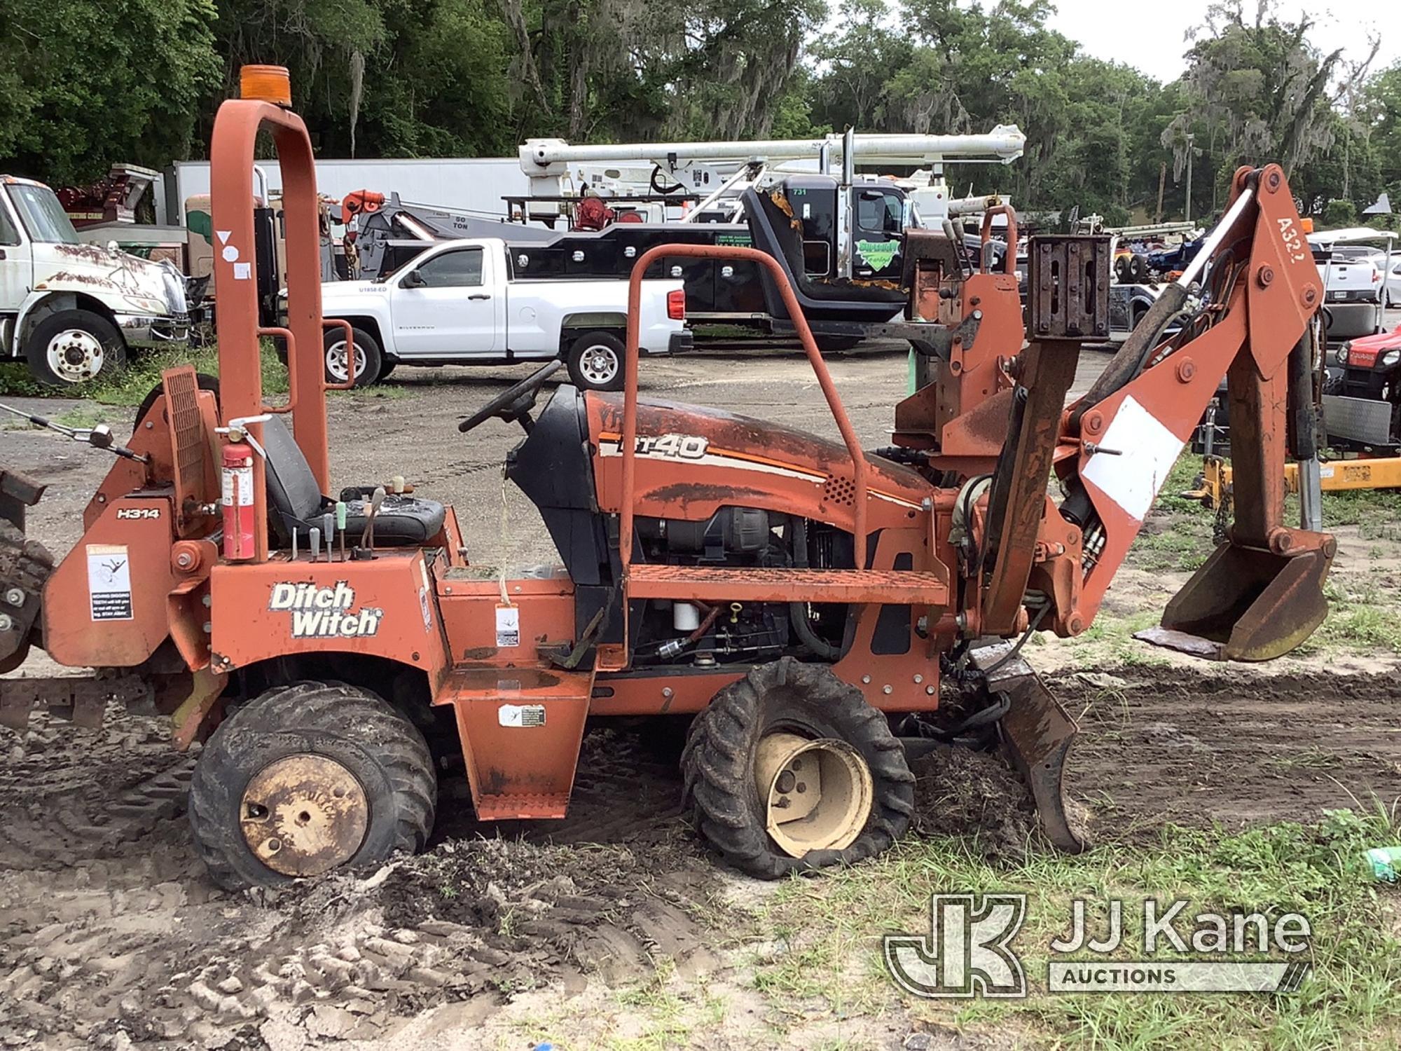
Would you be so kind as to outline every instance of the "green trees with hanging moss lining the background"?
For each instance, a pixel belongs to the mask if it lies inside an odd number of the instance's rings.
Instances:
[[[0,21],[0,157],[57,185],[113,161],[202,156],[238,67],[272,62],[291,70],[324,157],[511,154],[531,136],[808,137],[1016,122],[1026,158],[958,167],[955,192],[1000,191],[1024,209],[1079,205],[1111,224],[1171,219],[1191,157],[1194,216],[1219,210],[1238,164],[1269,160],[1289,170],[1309,213],[1330,202],[1334,214],[1360,210],[1384,189],[1401,200],[1401,66],[1366,77],[1318,52],[1310,18],[1282,15],[1274,0],[1258,17],[1240,0],[1210,7],[1184,77],[1166,85],[1084,56],[1048,28],[1048,0],[11,8]]]

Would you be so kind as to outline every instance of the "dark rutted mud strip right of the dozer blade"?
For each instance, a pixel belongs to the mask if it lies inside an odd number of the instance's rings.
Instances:
[[[1049,685],[1080,720],[1066,790],[1097,839],[1401,800],[1401,687],[1388,675],[1121,670]]]

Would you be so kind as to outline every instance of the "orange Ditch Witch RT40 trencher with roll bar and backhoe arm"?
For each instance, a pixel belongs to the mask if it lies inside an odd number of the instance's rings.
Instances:
[[[252,272],[259,132],[283,174],[279,331],[258,325]],[[1000,736],[1051,839],[1079,849],[1061,800],[1073,722],[1014,653],[972,647],[1090,626],[1223,376],[1237,520],[1168,605],[1164,640],[1262,660],[1324,618],[1334,541],[1282,523],[1286,360],[1321,283],[1278,167],[1237,172],[1177,291],[1069,406],[1080,342],[1108,328],[1107,241],[1031,241],[1024,327],[1014,247],[1006,272],[968,272],[960,245],[912,231],[920,385],[878,453],[860,447],[771,256],[646,252],[622,394],[559,385],[541,404],[549,364],[461,425],[521,426],[506,474],[559,552],[556,568],[496,573],[469,562],[441,503],[373,485],[332,496],[312,150],[284,73],[245,77],[210,157],[217,390],[167,373],[81,541],[42,596],[17,584],[42,617],[14,650],[36,642],[98,675],[0,682],[0,715],[20,722],[41,698],[84,719],[123,696],[168,715],[177,747],[203,740],[189,813],[227,887],[422,846],[434,708],[453,716],[483,820],[563,816],[590,716],[695,716],[681,760],[695,824],[730,863],[773,877],[899,837],[908,757],[948,733],[937,709],[962,688],[964,729]],[[643,275],[719,255],[773,273],[841,443],[639,398]],[[1160,339],[1203,273],[1210,305]],[[286,406],[263,402],[268,335],[289,349]]]

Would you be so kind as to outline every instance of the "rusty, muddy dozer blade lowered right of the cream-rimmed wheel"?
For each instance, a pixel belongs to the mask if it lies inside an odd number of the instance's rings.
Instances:
[[[1021,657],[998,664],[1006,649],[974,650],[972,663],[988,673],[988,689],[1010,702],[999,723],[1002,750],[1031,789],[1041,831],[1058,851],[1080,853],[1084,839],[1070,825],[1061,785],[1065,757],[1080,729],[1041,677]],[[989,671],[991,668],[991,671]]]

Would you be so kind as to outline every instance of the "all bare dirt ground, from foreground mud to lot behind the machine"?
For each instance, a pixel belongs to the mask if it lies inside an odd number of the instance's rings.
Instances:
[[[1080,388],[1104,360],[1086,356]],[[460,436],[454,426],[524,371],[401,369],[388,397],[335,398],[336,483],[403,474],[457,506],[474,561],[551,559],[538,517],[513,490],[503,514],[500,462],[518,430],[490,422]],[[838,357],[832,373],[863,441],[884,444],[904,356]],[[643,384],[835,434],[796,355],[646,362]],[[130,411],[101,412],[129,426]],[[0,430],[0,458],[49,485],[29,533],[62,556],[102,454],[11,429]],[[1401,542],[1369,541],[1379,556],[1341,535],[1337,575],[1397,584]],[[1161,608],[1182,579],[1131,565],[1103,615]],[[1068,789],[1097,839],[1401,799],[1394,656],[1345,664],[1321,649],[1267,674],[1031,650],[1080,719]],[[35,657],[14,674],[52,671]],[[658,974],[703,985],[720,1005],[689,1020],[685,1041],[705,1048],[982,1045],[912,1036],[899,1012],[773,1024],[785,1005],[754,988],[745,963],[748,918],[768,888],[696,845],[671,739],[591,730],[565,821],[481,825],[465,786],[448,783],[420,858],[228,895],[205,876],[184,818],[195,757],[171,753],[157,720],[113,710],[98,730],[45,715],[25,731],[0,729],[0,1047],[430,1051],[532,1048],[551,1033],[572,1048],[664,1047],[635,1009]],[[1028,849],[1024,795],[996,757],[936,753],[916,772],[916,835],[967,835],[989,855]]]

